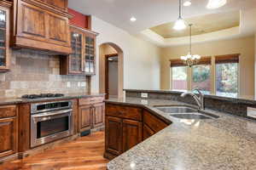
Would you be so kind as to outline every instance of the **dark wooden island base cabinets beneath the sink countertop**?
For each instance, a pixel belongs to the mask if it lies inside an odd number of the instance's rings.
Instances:
[[[168,126],[136,106],[106,104],[105,115],[104,157],[110,160]]]

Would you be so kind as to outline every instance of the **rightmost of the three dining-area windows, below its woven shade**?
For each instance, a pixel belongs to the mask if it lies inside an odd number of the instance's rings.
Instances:
[[[216,94],[237,97],[238,63],[216,65]]]

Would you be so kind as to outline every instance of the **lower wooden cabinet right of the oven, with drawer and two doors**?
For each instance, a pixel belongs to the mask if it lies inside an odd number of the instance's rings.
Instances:
[[[104,126],[104,97],[79,99],[79,133]]]

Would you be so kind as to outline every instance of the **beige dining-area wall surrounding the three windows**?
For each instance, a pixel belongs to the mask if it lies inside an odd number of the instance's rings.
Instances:
[[[241,54],[240,56],[240,94],[241,96],[254,95],[254,37],[243,37],[233,40],[204,42],[193,44],[192,53],[201,56],[222,54]],[[189,46],[163,48],[160,57],[160,88],[170,88],[170,59],[179,59],[188,54]],[[256,57],[256,56],[255,56]]]

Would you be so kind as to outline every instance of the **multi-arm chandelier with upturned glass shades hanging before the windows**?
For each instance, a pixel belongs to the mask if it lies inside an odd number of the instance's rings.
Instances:
[[[192,24],[189,24],[189,54],[186,56],[181,56],[181,59],[183,60],[185,65],[188,65],[191,67],[192,65],[195,65],[199,59],[201,59],[201,56],[198,54],[192,54]]]

